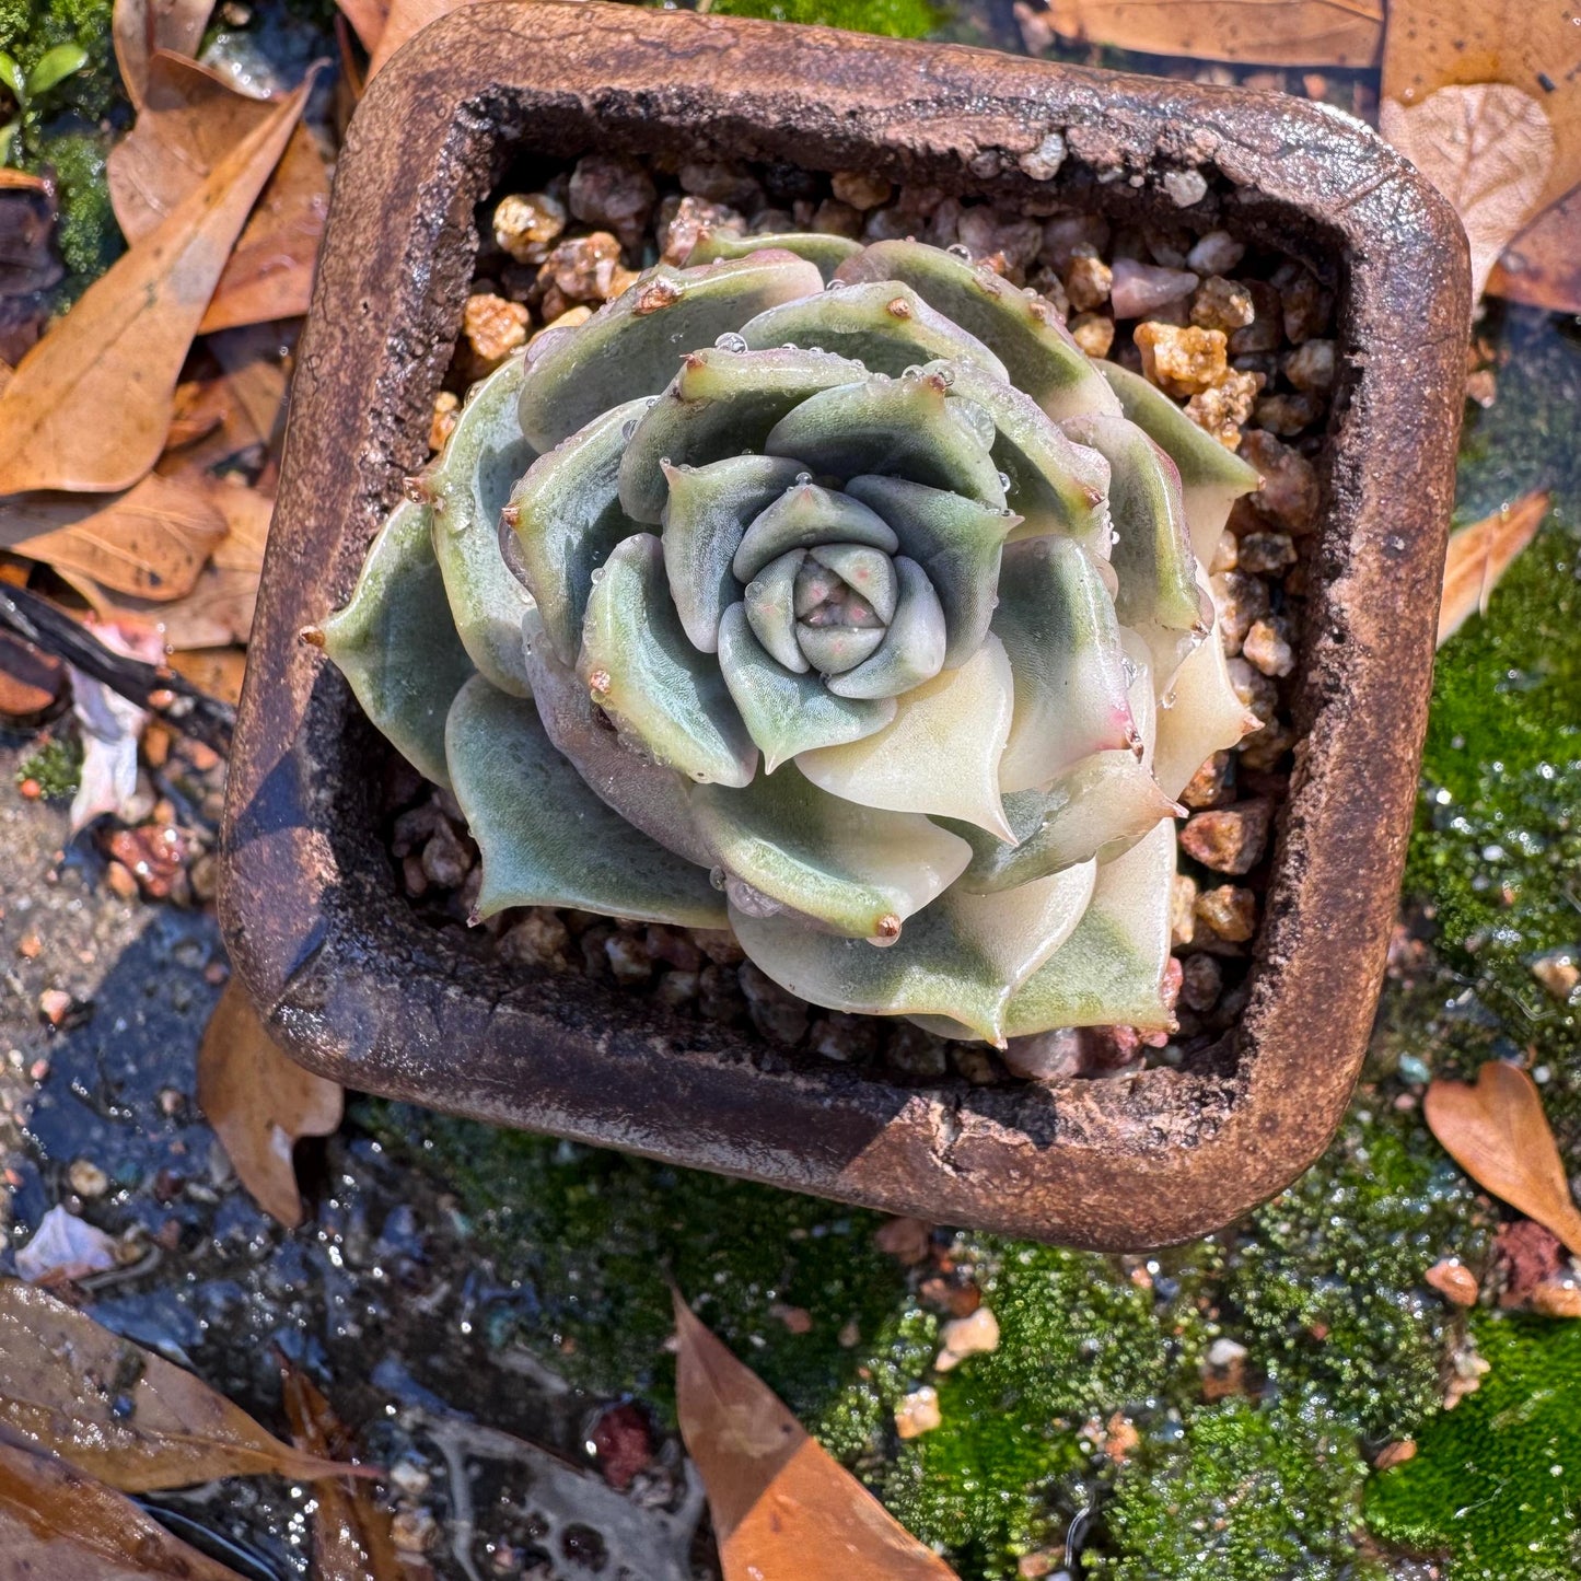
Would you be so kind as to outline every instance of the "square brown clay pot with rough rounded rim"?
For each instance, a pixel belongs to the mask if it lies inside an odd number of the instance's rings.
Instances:
[[[1050,131],[1051,182],[1023,157]],[[1238,1028],[1194,1069],[903,1086],[508,969],[417,917],[378,830],[379,746],[297,631],[349,594],[425,458],[511,153],[704,152],[1176,217],[1339,291],[1303,734]],[[1176,183],[1178,188],[1178,183]],[[626,6],[463,8],[405,49],[341,155],[302,340],[231,762],[220,896],[274,1034],[348,1086],[920,1217],[1092,1247],[1216,1228],[1303,1170],[1363,1056],[1404,860],[1469,319],[1450,209],[1364,126],[1293,98]]]

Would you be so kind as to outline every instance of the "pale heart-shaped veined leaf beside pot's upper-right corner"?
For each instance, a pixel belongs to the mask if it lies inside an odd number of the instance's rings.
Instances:
[[[1450,85],[1412,106],[1383,100],[1379,130],[1455,206],[1472,248],[1472,292],[1481,296],[1553,169],[1543,106],[1502,82]]]

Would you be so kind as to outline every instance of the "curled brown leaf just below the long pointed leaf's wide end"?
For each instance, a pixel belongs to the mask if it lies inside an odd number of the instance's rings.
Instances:
[[[193,590],[226,530],[212,487],[158,473],[108,503],[52,492],[0,500],[0,547],[155,602]]]

